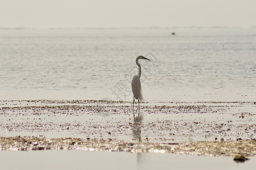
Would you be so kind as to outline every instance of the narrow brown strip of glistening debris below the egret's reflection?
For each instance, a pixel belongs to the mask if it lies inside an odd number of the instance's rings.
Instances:
[[[0,137],[0,150],[85,150],[111,152],[152,152],[204,156],[255,156],[256,141],[201,141],[185,143],[124,142],[112,139],[81,139],[44,137]]]

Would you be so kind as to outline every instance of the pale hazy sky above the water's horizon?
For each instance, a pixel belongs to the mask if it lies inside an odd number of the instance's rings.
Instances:
[[[0,27],[255,25],[256,0],[0,0]]]

